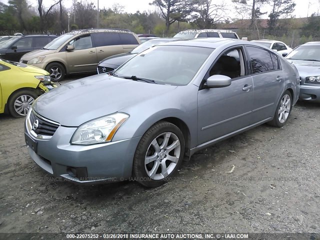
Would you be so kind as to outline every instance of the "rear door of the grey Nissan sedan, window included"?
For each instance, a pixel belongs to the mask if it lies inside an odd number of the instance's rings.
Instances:
[[[276,53],[257,46],[246,46],[253,78],[252,118],[255,122],[273,116],[284,90],[284,78]]]

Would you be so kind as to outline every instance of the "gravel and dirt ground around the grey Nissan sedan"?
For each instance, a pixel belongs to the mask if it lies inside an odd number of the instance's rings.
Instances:
[[[23,123],[0,114],[2,233],[319,232],[319,104],[197,152],[153,189],[54,181],[29,157]]]

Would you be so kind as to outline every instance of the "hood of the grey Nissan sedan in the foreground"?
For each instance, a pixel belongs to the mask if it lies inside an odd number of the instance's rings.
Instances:
[[[38,97],[32,108],[61,125],[77,127],[175,88],[172,85],[94,75],[50,90]]]

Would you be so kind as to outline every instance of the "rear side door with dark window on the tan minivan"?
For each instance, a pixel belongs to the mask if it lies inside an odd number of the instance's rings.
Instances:
[[[101,61],[108,56],[123,53],[118,32],[94,32],[91,33],[97,52],[97,61]]]

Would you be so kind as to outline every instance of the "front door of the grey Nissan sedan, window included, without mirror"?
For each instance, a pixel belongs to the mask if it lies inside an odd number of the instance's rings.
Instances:
[[[243,47],[227,49],[206,74],[227,75],[231,85],[198,91],[198,145],[252,124],[253,81],[248,76]]]

